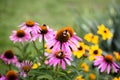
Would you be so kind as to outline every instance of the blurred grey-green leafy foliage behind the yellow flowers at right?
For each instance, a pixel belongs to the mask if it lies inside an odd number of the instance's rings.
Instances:
[[[119,4],[114,3],[110,5],[108,9],[109,11],[102,16],[96,15],[94,18],[93,16],[89,18],[78,18],[75,25],[76,27],[79,27],[75,28],[75,30],[83,38],[84,35],[89,32],[97,34],[98,25],[104,24],[113,33],[113,38],[111,40],[101,41],[101,48],[108,53],[112,53],[113,51],[120,52],[120,6]]]

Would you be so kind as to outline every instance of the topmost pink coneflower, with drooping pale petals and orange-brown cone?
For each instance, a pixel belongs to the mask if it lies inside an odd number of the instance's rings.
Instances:
[[[37,32],[39,30],[39,24],[34,21],[31,21],[31,20],[28,20],[28,21],[22,23],[20,25],[20,27],[22,30],[25,30],[29,33],[34,32],[34,31]]]

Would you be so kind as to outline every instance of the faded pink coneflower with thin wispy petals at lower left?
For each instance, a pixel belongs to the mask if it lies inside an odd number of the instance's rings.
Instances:
[[[20,64],[20,75],[23,77],[28,76],[28,72],[31,70],[33,63],[31,61],[25,60]]]

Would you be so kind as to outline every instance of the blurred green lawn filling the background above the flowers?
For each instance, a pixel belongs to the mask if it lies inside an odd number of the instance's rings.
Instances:
[[[67,25],[77,28],[74,24],[78,18],[104,19],[114,1],[120,3],[120,0],[0,0],[0,52],[12,48],[9,36],[26,20],[45,23],[55,30]]]

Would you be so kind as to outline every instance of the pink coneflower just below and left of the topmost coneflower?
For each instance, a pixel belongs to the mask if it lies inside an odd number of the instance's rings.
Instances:
[[[14,43],[28,41],[30,39],[30,34],[24,30],[13,31],[13,34],[10,36],[10,40]]]

